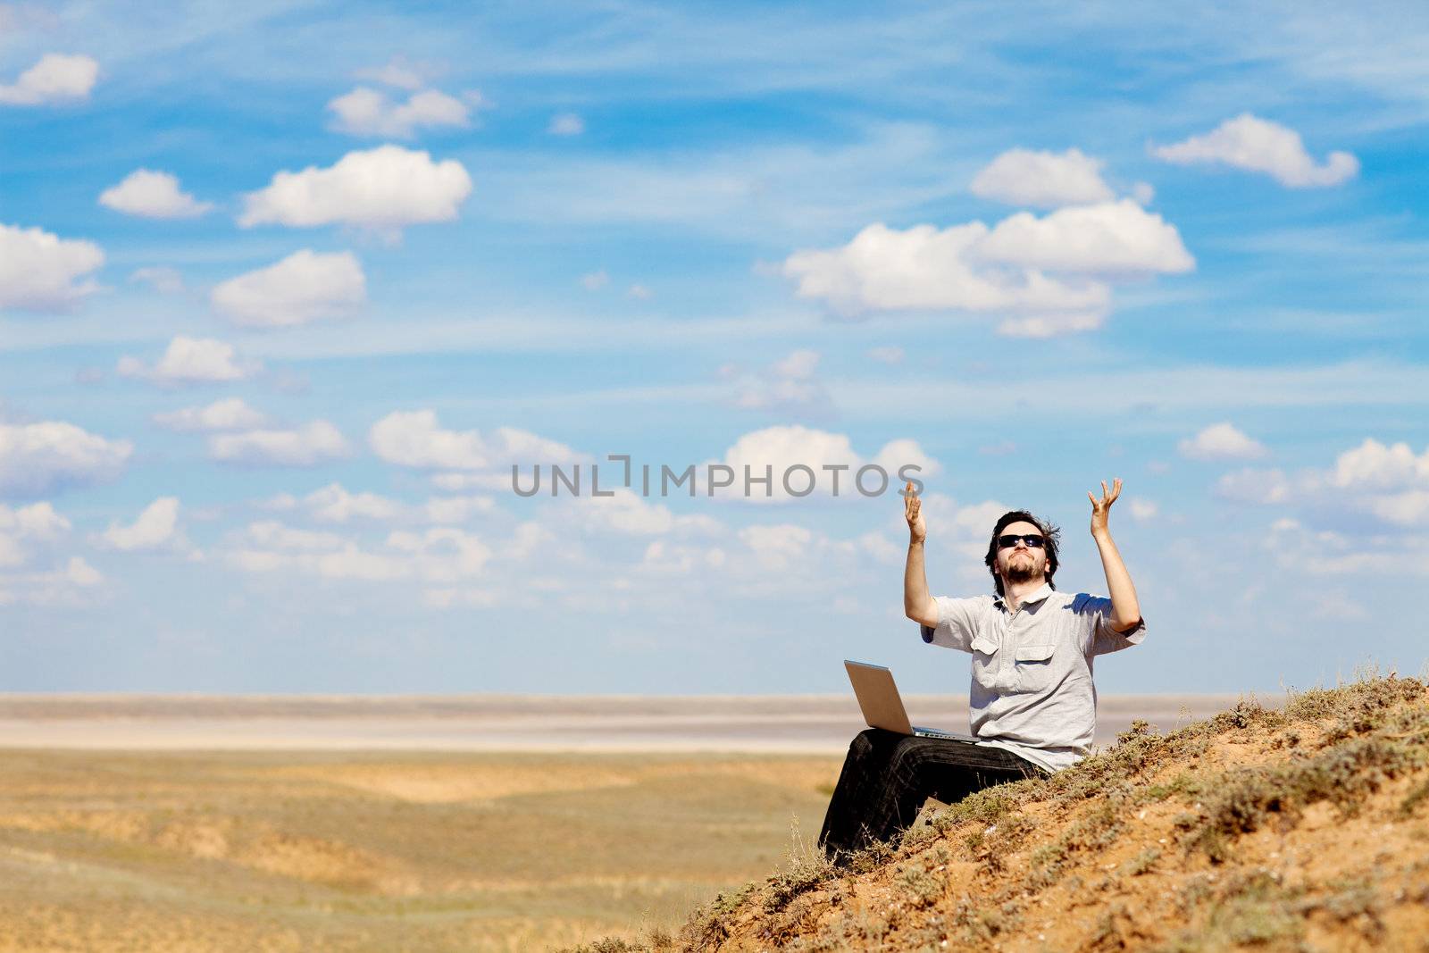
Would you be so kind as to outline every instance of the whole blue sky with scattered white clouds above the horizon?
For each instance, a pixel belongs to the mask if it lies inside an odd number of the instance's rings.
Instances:
[[[947,596],[1010,509],[1105,593],[1123,480],[1103,693],[1416,674],[1426,46],[1410,3],[0,3],[0,690],[966,692],[905,467]]]

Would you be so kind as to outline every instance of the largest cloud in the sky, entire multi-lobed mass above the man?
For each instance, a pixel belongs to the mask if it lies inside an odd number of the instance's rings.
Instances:
[[[1112,281],[1195,267],[1175,226],[1129,199],[982,221],[863,229],[837,249],[789,256],[800,297],[845,314],[950,310],[1002,317],[999,331],[1046,337],[1105,320]]]

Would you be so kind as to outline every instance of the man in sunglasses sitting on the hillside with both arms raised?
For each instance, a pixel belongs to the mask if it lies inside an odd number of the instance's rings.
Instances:
[[[955,803],[997,784],[1049,774],[1090,753],[1096,729],[1092,659],[1146,637],[1136,587],[1112,542],[1107,514],[1122,480],[1092,500],[1092,539],[1110,597],[1056,592],[1057,530],[1025,510],[1005,513],[985,559],[996,596],[933,599],[923,572],[927,524],[913,484],[905,490],[909,526],[903,613],[923,642],[972,654],[972,730],[976,744],[912,737],[882,729],[849,746],[819,842],[833,859],[907,827],[932,796]]]

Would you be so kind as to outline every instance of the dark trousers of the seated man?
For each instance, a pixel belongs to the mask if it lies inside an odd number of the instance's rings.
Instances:
[[[1046,772],[1000,747],[869,729],[849,744],[819,843],[837,860],[905,830],[929,797],[955,804],[1039,774]]]

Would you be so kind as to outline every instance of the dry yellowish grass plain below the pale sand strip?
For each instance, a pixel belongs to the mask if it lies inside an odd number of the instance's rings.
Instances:
[[[830,757],[0,752],[0,952],[656,936],[777,863]]]

